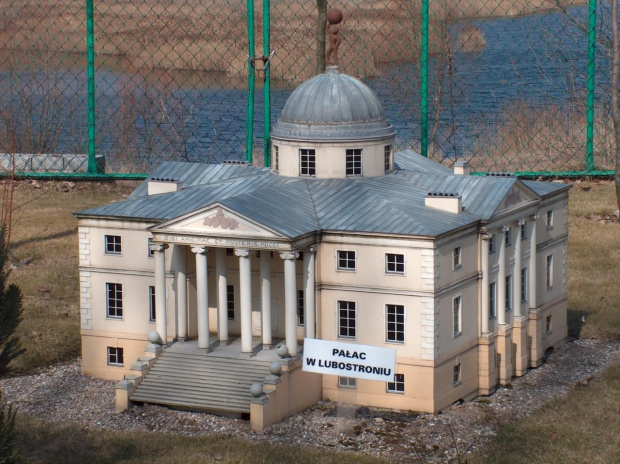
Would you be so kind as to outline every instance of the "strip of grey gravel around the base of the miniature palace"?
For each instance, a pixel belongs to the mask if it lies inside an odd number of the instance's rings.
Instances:
[[[117,414],[114,382],[80,375],[79,362],[0,381],[5,400],[20,414],[89,429],[143,430],[181,435],[226,433],[251,442],[305,445],[388,457],[391,461],[445,462],[474,450],[498,427],[526,416],[552,398],[587,384],[620,357],[620,343],[577,340],[553,353],[546,364],[499,388],[489,397],[454,405],[443,414],[415,414],[321,401],[264,433],[249,422],[210,414],[144,405]]]

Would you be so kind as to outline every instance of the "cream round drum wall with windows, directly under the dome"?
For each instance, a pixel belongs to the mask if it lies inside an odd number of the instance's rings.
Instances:
[[[345,178],[346,149],[362,149],[362,175],[364,177],[381,176],[385,174],[384,148],[394,146],[394,138],[369,142],[335,142],[335,143],[302,143],[273,139],[272,145],[279,150],[279,171],[282,176],[300,177],[299,150],[309,148],[315,150],[316,177]],[[273,153],[273,152],[272,152]],[[393,155],[392,155],[393,157]],[[393,164],[393,163],[392,163]]]

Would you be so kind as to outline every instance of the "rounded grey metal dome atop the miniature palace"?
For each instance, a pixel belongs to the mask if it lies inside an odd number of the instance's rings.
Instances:
[[[286,101],[272,136],[287,140],[352,141],[391,137],[381,101],[363,82],[328,67]]]

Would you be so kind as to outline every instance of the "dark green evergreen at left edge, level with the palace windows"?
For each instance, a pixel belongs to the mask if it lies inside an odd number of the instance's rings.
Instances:
[[[4,374],[8,364],[25,350],[19,346],[15,329],[22,316],[22,292],[15,284],[8,284],[9,250],[6,240],[6,228],[0,228],[0,375]]]

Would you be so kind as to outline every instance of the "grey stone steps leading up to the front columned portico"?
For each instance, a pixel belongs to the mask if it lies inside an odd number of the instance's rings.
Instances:
[[[263,383],[269,364],[256,358],[166,350],[130,399],[192,411],[249,414],[250,385]]]

